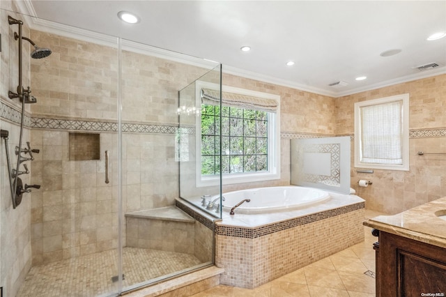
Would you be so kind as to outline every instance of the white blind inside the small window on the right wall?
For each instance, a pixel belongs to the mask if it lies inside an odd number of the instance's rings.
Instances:
[[[403,100],[360,107],[360,160],[364,163],[403,164]]]

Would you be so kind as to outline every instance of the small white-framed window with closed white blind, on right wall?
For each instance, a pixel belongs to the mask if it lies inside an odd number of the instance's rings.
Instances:
[[[409,95],[355,103],[355,167],[409,170]]]

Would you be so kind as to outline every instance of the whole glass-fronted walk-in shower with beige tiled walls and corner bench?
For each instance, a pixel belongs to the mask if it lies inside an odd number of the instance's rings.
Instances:
[[[13,2],[0,8],[0,125],[13,152],[23,116],[22,149],[29,142],[39,153],[22,179],[40,185],[13,207],[2,139],[3,296],[117,296],[212,265],[212,230],[176,205],[221,192],[220,183],[195,181],[196,80],[220,86],[221,67],[75,28],[36,30],[41,20],[15,13]],[[22,45],[24,85],[36,100],[23,113],[8,98],[19,71],[8,15],[24,22],[33,43],[52,49],[34,60],[30,44]]]

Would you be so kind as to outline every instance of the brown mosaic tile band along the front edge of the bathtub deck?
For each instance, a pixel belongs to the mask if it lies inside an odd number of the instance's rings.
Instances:
[[[231,237],[242,238],[259,238],[268,234],[276,233],[285,229],[300,226],[302,224],[309,224],[318,220],[324,220],[326,218],[332,218],[336,215],[349,213],[351,211],[357,211],[358,209],[365,208],[365,202],[344,206],[341,208],[329,209],[328,211],[321,211],[320,213],[313,213],[311,215],[305,215],[300,218],[293,218],[290,220],[284,220],[281,222],[268,224],[257,228],[244,228],[234,226],[224,226],[220,224],[215,225],[215,234]]]

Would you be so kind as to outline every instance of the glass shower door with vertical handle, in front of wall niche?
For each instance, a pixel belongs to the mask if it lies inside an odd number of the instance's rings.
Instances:
[[[38,20],[1,10],[1,128],[9,131],[8,148],[15,158],[21,102],[6,95],[16,91],[19,45],[13,37],[18,26],[8,24],[8,15],[24,22],[23,36],[49,47],[52,54],[31,59],[30,45],[23,40],[23,86],[30,87],[36,102],[26,104],[22,148],[17,151],[30,158],[29,142],[33,160],[20,165],[21,171],[29,171],[20,177],[40,188],[25,192],[16,208],[1,139],[3,296],[117,296],[117,40],[105,36],[108,41],[98,44],[33,30],[30,26]]]

